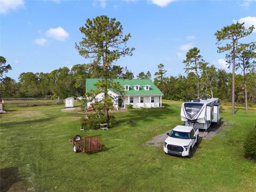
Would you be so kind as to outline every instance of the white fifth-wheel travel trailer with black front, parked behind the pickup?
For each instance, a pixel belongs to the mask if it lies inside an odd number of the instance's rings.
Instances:
[[[220,99],[203,97],[182,103],[181,121],[185,126],[207,130],[211,123],[220,121]]]

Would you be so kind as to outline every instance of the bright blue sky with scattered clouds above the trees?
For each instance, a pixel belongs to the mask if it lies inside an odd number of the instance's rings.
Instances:
[[[79,27],[87,18],[106,14],[131,33],[132,57],[117,61],[134,75],[152,75],[163,63],[167,76],[184,73],[186,52],[198,47],[206,61],[226,69],[225,54],[217,53],[215,31],[235,21],[256,26],[256,1],[24,1],[0,0],[0,54],[18,79],[22,72],[49,73],[63,66],[89,63],[75,49]],[[256,30],[244,42],[256,40]]]

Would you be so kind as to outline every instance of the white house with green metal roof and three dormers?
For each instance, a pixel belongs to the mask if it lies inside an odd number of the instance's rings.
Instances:
[[[87,78],[86,92],[95,90],[94,86],[100,79]],[[119,82],[124,87],[123,95],[119,95],[112,90],[108,90],[108,95],[113,100],[114,109],[119,107],[127,107],[132,105],[134,108],[139,107],[162,107],[163,93],[150,79],[113,79],[114,82]],[[104,98],[104,93],[98,94],[94,102],[99,102]],[[91,102],[88,103],[90,105]]]

